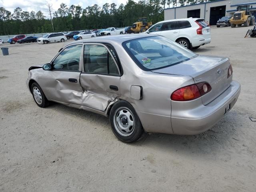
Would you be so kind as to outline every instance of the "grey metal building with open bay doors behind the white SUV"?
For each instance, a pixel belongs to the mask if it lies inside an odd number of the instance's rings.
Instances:
[[[256,16],[256,0],[216,0],[213,2],[167,8],[164,20],[180,18],[204,18],[210,25],[216,25],[219,18],[233,16],[238,5],[250,5],[250,11]]]

